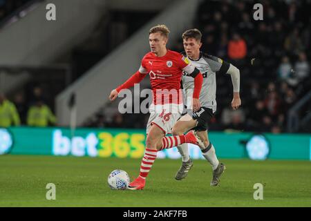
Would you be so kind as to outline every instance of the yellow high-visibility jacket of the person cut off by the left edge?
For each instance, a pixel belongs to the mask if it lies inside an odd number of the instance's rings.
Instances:
[[[10,102],[0,93],[0,127],[9,127],[12,125],[19,126],[21,119],[15,107],[15,104]]]

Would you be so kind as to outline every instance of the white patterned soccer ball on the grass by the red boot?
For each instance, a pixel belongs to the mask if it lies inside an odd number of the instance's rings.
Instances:
[[[114,170],[109,174],[108,184],[111,189],[127,189],[130,183],[129,175],[122,170]]]

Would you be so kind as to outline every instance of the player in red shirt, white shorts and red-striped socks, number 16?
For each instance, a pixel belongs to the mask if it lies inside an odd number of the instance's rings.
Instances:
[[[144,55],[140,69],[124,84],[112,90],[109,95],[109,99],[113,101],[117,98],[120,90],[140,83],[147,74],[150,76],[153,103],[149,108],[150,117],[147,124],[146,150],[140,166],[140,175],[129,184],[129,189],[132,190],[144,189],[146,177],[156,160],[157,151],[163,145],[164,148],[169,148],[184,143],[198,144],[192,132],[186,135],[164,137],[171,132],[171,128],[180,118],[184,108],[182,90],[180,89],[182,71],[194,77],[192,103],[194,111],[198,111],[200,108],[198,97],[203,81],[200,70],[192,66],[186,57],[167,49],[168,39],[169,29],[167,26],[158,25],[151,28],[149,31],[151,52]]]

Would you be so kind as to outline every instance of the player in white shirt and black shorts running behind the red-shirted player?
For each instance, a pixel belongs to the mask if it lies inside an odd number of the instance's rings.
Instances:
[[[202,90],[200,92],[200,104],[201,108],[193,112],[187,111],[187,114],[182,116],[178,122],[173,126],[173,135],[182,135],[183,133],[194,130],[194,134],[199,141],[199,146],[202,151],[202,155],[211,164],[213,169],[213,178],[211,180],[211,186],[216,186],[220,182],[220,175],[225,170],[225,164],[220,163],[216,157],[215,148],[211,142],[209,142],[207,136],[207,124],[211,117],[214,116],[216,111],[216,75],[229,74],[232,78],[232,85],[234,90],[234,97],[232,99],[232,108],[236,110],[241,106],[240,99],[240,70],[232,64],[214,57],[206,55],[200,52],[202,34],[198,29],[190,29],[182,34],[183,44],[185,48],[184,55],[188,57],[200,72],[204,79],[202,84]],[[187,74],[182,77],[182,86],[184,88],[185,104],[187,107],[191,107],[191,97],[194,89],[194,79]],[[176,180],[182,180],[187,176],[189,169],[193,165],[189,158],[188,145],[182,144],[178,146],[178,151],[182,155],[182,166],[176,173]]]

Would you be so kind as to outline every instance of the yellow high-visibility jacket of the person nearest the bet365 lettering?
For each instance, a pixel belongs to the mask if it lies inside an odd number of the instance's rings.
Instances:
[[[53,115],[50,108],[44,104],[41,99],[38,99],[35,105],[30,106],[27,114],[28,126],[48,126],[49,123],[55,124],[56,117]]]

